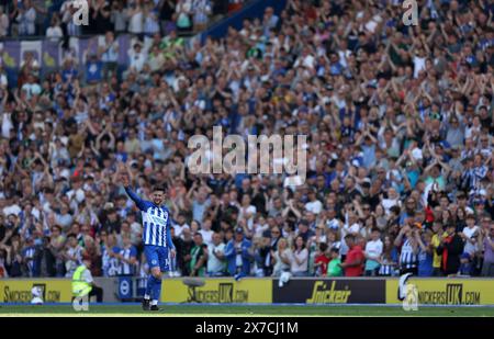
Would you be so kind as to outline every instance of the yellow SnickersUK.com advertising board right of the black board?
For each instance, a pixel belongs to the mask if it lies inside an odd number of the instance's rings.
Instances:
[[[407,281],[417,289],[419,305],[494,305],[493,279],[419,279]],[[386,304],[400,304],[398,280],[386,281]]]

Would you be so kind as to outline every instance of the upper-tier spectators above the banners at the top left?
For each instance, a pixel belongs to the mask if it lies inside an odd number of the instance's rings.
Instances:
[[[139,35],[198,32],[213,16],[238,10],[244,0],[85,0],[89,24],[78,26],[74,0],[0,0],[0,37],[64,37],[130,32]]]

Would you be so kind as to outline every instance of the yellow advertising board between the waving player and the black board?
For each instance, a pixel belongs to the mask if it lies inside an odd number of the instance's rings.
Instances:
[[[270,279],[164,279],[165,303],[272,303]]]

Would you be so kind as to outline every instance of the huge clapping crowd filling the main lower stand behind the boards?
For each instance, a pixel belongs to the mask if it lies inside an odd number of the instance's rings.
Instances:
[[[289,0],[204,45],[155,33],[123,74],[103,50],[0,77],[0,274],[145,274],[127,173],[168,185],[172,275],[493,276],[494,4],[418,2],[405,26],[401,1]],[[307,135],[306,182],[191,174],[217,125]]]

